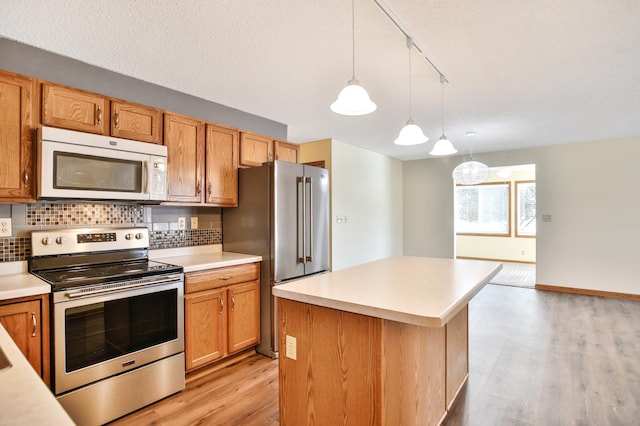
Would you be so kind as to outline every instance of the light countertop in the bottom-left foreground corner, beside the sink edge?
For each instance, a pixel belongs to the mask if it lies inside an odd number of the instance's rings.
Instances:
[[[0,425],[73,425],[2,325],[0,348],[12,364],[0,370]]]

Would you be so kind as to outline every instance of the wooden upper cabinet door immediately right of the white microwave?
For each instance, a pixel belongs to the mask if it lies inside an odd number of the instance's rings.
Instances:
[[[164,117],[168,199],[201,203],[203,197],[204,124],[174,114]]]

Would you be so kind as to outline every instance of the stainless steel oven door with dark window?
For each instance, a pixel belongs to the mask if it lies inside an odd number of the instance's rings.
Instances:
[[[184,278],[179,277],[77,298],[54,293],[55,394],[183,352]]]

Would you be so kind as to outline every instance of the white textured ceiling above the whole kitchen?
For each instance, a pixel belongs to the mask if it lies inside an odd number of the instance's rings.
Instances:
[[[460,153],[640,136],[640,1],[386,0],[447,76]],[[440,137],[441,85],[403,34],[355,1],[355,73],[378,110],[332,113],[351,78],[349,0],[3,0],[0,36],[399,159]],[[0,52],[1,54],[1,52]],[[469,138],[467,132],[477,136]]]

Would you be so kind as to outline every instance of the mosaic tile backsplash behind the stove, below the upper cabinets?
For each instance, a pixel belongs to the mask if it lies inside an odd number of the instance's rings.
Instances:
[[[1,205],[0,214],[10,214],[13,235],[0,238],[0,262],[27,260],[31,231],[48,228],[146,226],[151,249],[222,244],[220,209],[211,207],[37,203]],[[194,216],[198,229],[189,229]],[[187,218],[187,229],[177,229],[178,217]]]

